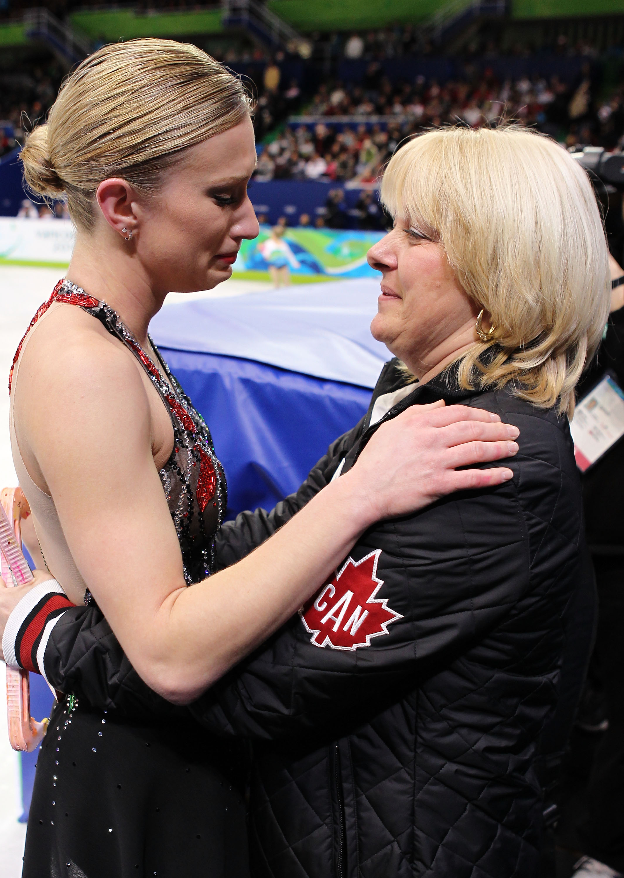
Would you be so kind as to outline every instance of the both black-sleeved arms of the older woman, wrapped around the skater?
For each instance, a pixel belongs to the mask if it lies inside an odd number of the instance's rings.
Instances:
[[[271,514],[229,522],[221,557],[251,551],[250,539],[265,538],[308,491],[330,479],[342,457],[339,445],[333,452]],[[258,738],[318,729],[341,717],[353,722],[359,709],[370,712],[396,688],[413,687],[418,675],[494,629],[529,581],[519,464],[511,465],[512,483],[461,493],[367,530],[350,553],[355,563],[317,594],[318,609],[308,605],[303,619],[294,615],[193,703],[192,713],[218,733]],[[546,490],[551,476],[557,478],[554,468],[536,471],[529,463],[522,470],[528,491]],[[387,601],[387,612],[366,604],[378,580],[383,585],[374,600]],[[97,610],[76,608],[62,617],[47,647],[46,671],[54,685],[65,683],[104,709],[131,715],[168,709],[134,672]]]

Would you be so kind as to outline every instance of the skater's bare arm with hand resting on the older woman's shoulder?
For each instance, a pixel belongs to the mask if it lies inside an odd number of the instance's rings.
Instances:
[[[31,385],[24,433],[76,565],[137,672],[178,702],[286,622],[372,523],[503,481],[511,471],[454,467],[516,450],[490,413],[412,407],[258,550],[186,588],[152,457],[149,399],[126,352],[69,347]]]

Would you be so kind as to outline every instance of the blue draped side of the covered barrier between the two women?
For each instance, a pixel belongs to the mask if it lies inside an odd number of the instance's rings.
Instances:
[[[160,348],[205,418],[228,479],[227,518],[293,493],[329,444],[366,413],[371,390],[253,360]],[[49,716],[52,694],[31,674],[31,712]],[[22,753],[22,822],[39,751]]]

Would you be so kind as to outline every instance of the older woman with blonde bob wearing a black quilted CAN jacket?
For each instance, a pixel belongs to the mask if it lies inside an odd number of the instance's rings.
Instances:
[[[569,719],[591,628],[568,415],[608,313],[606,241],[584,171],[513,127],[410,141],[381,194],[395,225],[369,252],[382,275],[372,330],[395,358],[366,417],[297,494],[223,526],[217,563],[344,479],[413,407],[461,402],[515,424],[514,478],[367,529],[191,711],[256,739],[258,875],[529,878],[538,742],[546,733],[552,749],[552,717]],[[97,608],[67,611],[44,666],[54,686],[109,711],[157,709]]]

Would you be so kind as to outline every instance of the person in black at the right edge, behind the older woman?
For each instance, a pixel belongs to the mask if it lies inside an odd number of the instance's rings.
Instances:
[[[612,305],[599,354],[577,388],[579,398],[611,371],[624,388],[624,270],[611,257]],[[613,445],[584,472],[587,542],[596,572],[599,620],[581,728],[600,732],[584,790],[577,827],[584,856],[574,878],[621,878],[624,874],[624,448]],[[585,745],[586,746],[586,745]],[[574,754],[576,756],[576,753]],[[578,771],[575,759],[569,772]]]

